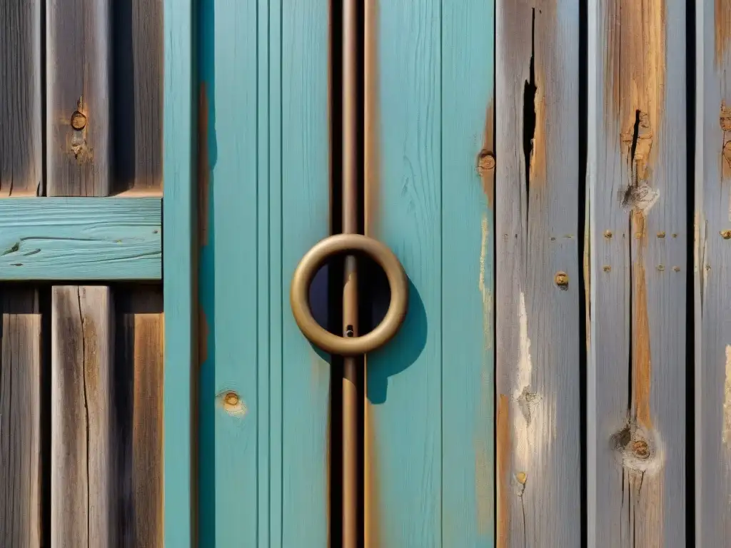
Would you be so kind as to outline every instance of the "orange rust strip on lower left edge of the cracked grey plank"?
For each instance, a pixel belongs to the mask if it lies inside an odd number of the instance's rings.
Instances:
[[[510,547],[510,397],[500,394],[496,417],[497,548]]]

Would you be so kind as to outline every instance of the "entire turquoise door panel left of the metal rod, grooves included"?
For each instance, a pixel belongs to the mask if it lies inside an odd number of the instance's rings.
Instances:
[[[327,544],[329,365],[283,297],[328,229],[328,6],[285,4],[200,4],[201,547]]]

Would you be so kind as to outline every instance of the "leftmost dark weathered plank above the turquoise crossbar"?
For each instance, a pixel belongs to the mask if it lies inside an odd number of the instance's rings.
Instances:
[[[0,6],[0,197],[42,191],[41,4]]]

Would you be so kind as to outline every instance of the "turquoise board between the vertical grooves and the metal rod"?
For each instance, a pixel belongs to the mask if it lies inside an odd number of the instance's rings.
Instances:
[[[271,387],[272,407],[280,406],[273,411],[272,437],[281,436],[281,495],[272,503],[281,504],[282,547],[328,542],[330,364],[301,334],[288,296],[295,267],[329,229],[329,4],[281,3],[281,96],[272,106],[281,110],[281,145],[271,152],[281,170],[281,180],[271,175],[270,253],[272,269],[281,269],[272,297],[271,347],[272,371],[281,368]]]

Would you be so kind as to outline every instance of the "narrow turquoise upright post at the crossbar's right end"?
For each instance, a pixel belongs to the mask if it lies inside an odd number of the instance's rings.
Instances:
[[[192,7],[192,0],[164,0],[164,539],[169,548],[192,548],[197,532],[192,497],[192,373],[197,370]]]

